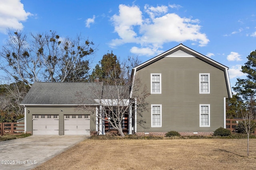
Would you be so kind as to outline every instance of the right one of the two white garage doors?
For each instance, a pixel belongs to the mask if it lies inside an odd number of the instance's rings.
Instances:
[[[64,115],[64,135],[90,135],[90,115]]]

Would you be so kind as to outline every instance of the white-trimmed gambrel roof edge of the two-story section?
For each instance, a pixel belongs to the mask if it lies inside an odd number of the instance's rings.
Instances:
[[[174,48],[172,48],[172,49],[170,49],[170,50],[168,50],[168,51],[166,51],[166,52],[164,52],[164,53],[162,53],[162,54],[160,54],[160,55],[158,55],[158,56],[156,56],[156,57],[154,57],[154,58],[136,66],[136,67],[134,67],[132,69],[133,78],[135,78],[135,74],[136,74],[137,70],[140,70],[140,69],[142,69],[142,68],[144,68],[144,67],[146,67],[146,66],[148,66],[148,65],[150,65],[150,64],[152,64],[152,63],[154,63],[154,62],[156,62],[156,61],[158,61],[158,60],[160,60],[160,59],[162,59],[166,56],[168,56],[168,55],[171,55],[172,53],[177,53],[177,55],[178,55],[179,51],[183,51],[183,52],[189,54],[190,56],[192,55],[192,56],[194,56],[198,59],[201,59],[202,61],[205,61],[206,63],[209,63],[213,66],[216,66],[220,70],[223,70],[224,74],[225,74],[226,85],[227,85],[227,88],[228,88],[228,96],[229,96],[229,98],[232,98],[232,90],[231,90],[230,80],[229,80],[229,76],[228,76],[228,67],[224,66],[223,64],[220,64],[220,63],[218,63],[218,62],[216,62],[216,61],[214,61],[214,60],[212,60],[212,59],[210,59],[210,58],[208,58],[208,57],[206,57],[206,56],[204,56],[204,55],[202,55],[202,54],[200,54],[200,53],[198,53],[198,52],[196,52],[196,51],[194,51],[194,50],[192,50],[188,47],[186,47],[183,44],[179,44],[176,47],[174,47]],[[134,81],[133,81],[133,83],[134,83]]]

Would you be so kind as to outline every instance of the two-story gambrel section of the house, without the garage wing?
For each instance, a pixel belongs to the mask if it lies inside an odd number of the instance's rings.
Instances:
[[[225,128],[225,102],[232,98],[227,66],[180,44],[136,66],[132,76],[150,93],[147,111],[135,112],[136,134],[211,135]]]

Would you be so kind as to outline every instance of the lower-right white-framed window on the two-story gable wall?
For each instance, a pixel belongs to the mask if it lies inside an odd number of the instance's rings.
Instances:
[[[200,104],[200,127],[210,127],[210,104]]]

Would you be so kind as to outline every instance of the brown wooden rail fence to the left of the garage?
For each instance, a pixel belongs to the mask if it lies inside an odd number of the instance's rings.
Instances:
[[[25,132],[24,123],[0,123],[0,135],[4,135],[6,133],[13,135],[14,133],[23,133]]]

